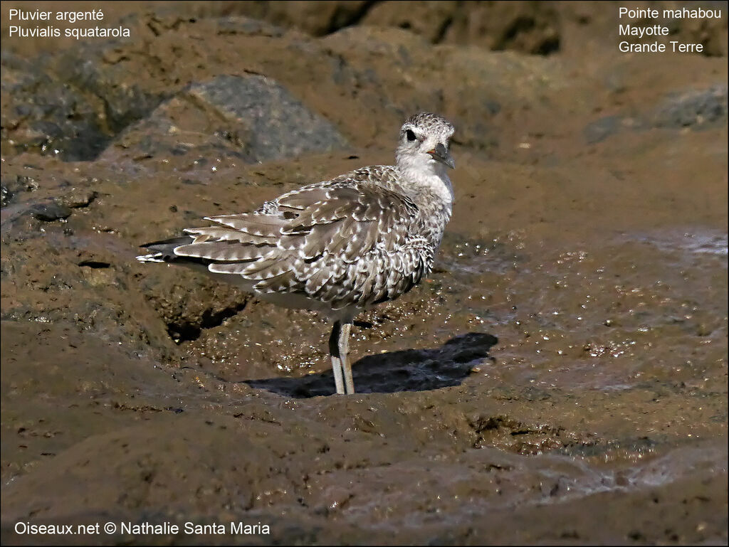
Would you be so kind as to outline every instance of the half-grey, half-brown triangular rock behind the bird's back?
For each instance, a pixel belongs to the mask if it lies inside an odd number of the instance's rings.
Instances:
[[[265,76],[195,83],[130,127],[116,146],[133,156],[234,156],[255,163],[347,146],[326,119]]]

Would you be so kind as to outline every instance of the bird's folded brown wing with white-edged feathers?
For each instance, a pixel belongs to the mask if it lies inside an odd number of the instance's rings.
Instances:
[[[208,217],[214,226],[185,229],[194,240],[174,253],[211,261],[211,272],[241,275],[260,291],[320,292],[375,248],[405,245],[416,219],[408,197],[366,174],[304,186],[254,213]]]

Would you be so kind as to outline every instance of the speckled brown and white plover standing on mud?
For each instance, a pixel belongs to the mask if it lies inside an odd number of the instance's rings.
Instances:
[[[355,393],[354,317],[429,274],[451,219],[453,133],[448,120],[420,112],[400,128],[394,165],[302,186],[251,213],[205,217],[210,226],[140,245],[149,252],[136,258],[192,267],[263,301],[324,315],[336,393]]]

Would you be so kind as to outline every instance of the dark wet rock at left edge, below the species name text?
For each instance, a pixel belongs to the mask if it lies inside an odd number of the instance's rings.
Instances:
[[[33,62],[4,52],[4,148],[93,160],[120,130],[152,111],[163,93],[128,82],[116,50],[114,42],[79,42]]]

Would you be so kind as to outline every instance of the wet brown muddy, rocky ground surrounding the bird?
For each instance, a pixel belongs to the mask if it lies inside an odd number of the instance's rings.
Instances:
[[[621,54],[609,2],[132,2],[128,40],[7,39],[46,4],[2,7],[2,543],[726,543],[725,3],[671,22],[706,55]],[[135,261],[391,162],[421,109],[456,205],[352,329],[361,393],[324,320]]]

